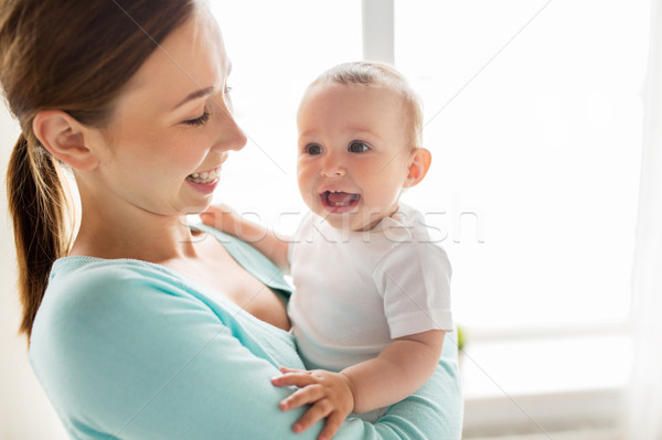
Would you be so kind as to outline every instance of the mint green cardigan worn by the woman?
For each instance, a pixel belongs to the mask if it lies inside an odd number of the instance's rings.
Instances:
[[[289,287],[252,246],[197,226],[248,272]],[[222,282],[223,273],[218,273]],[[212,299],[213,298],[213,299]],[[346,420],[334,439],[459,439],[457,343],[433,378],[375,423]],[[73,439],[314,439],[292,432],[303,408],[269,378],[303,368],[295,340],[168,268],[132,259],[55,261],[32,331],[30,362]]]

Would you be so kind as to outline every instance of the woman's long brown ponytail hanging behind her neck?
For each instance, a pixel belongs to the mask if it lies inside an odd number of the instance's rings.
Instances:
[[[11,153],[7,195],[23,305],[20,333],[30,340],[53,262],[66,254],[71,243],[65,217],[68,205],[58,165],[32,133],[28,138],[21,135]]]

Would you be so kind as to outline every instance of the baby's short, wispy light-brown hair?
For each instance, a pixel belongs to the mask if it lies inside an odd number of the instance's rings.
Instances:
[[[357,84],[382,86],[398,93],[407,116],[407,131],[413,147],[423,144],[423,104],[407,79],[395,67],[378,62],[352,62],[338,64],[322,73],[309,87],[320,83]]]

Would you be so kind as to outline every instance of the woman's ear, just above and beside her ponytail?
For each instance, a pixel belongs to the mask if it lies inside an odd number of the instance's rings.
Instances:
[[[65,111],[40,111],[32,121],[32,130],[51,154],[73,169],[90,171],[98,165],[94,151],[85,144],[87,128]]]

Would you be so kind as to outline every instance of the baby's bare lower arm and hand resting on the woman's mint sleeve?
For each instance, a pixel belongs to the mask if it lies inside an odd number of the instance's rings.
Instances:
[[[350,412],[366,412],[396,404],[433,375],[444,346],[446,332],[429,330],[394,340],[373,359],[352,365],[340,373],[281,368],[276,386],[295,385],[301,389],[280,403],[282,410],[306,404],[312,407],[293,426],[303,432],[322,418],[327,419],[320,439],[333,437]]]

